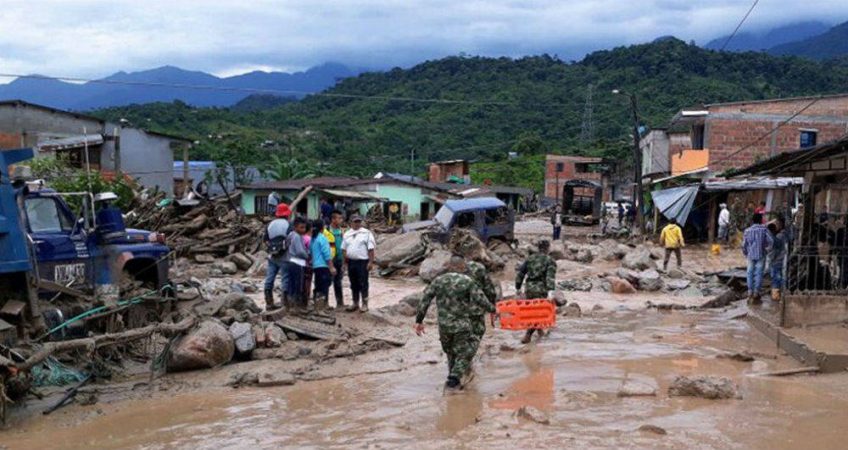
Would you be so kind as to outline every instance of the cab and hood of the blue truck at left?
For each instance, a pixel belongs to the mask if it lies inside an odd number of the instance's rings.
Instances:
[[[30,185],[20,195],[41,291],[54,291],[54,283],[117,297],[128,278],[156,289],[167,284],[170,249],[164,237],[127,229],[120,210],[109,204],[114,194],[60,194]],[[79,216],[66,201],[68,195],[82,199]]]

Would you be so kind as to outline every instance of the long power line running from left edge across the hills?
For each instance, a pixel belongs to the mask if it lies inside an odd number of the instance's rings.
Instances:
[[[158,83],[150,81],[125,81],[125,80],[105,80],[105,79],[90,79],[79,77],[64,77],[64,76],[47,76],[47,75],[24,75],[15,73],[0,73],[2,78],[24,78],[33,80],[50,80],[50,81],[68,81],[75,83],[96,83],[108,85],[125,85],[125,86],[141,86],[141,87],[164,87],[178,89],[195,89],[207,91],[225,91],[225,92],[243,92],[249,94],[295,94],[329,98],[348,98],[359,100],[381,100],[381,101],[400,101],[413,103],[430,103],[430,104],[448,104],[448,105],[476,105],[476,106],[521,106],[515,102],[500,102],[500,101],[475,101],[475,100],[449,100],[439,98],[416,98],[416,97],[396,97],[389,95],[363,95],[363,94],[342,94],[333,92],[308,92],[287,89],[259,89],[259,88],[242,88],[242,87],[227,87],[227,86],[212,86],[201,84],[182,84],[182,83]],[[539,105],[533,105],[539,106]],[[548,106],[560,106],[548,104]]]

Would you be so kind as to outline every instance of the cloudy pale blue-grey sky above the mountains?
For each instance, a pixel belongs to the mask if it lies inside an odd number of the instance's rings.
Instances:
[[[102,77],[166,64],[231,75],[325,61],[588,51],[728,34],[750,0],[3,0],[0,72]],[[743,30],[848,20],[845,0],[761,0]],[[0,82],[6,80],[0,79]]]

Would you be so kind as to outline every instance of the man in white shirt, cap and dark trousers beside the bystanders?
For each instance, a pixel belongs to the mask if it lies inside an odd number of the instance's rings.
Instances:
[[[374,251],[377,241],[374,234],[362,226],[362,216],[354,214],[350,217],[350,229],[342,239],[342,252],[347,266],[347,276],[350,280],[350,293],[353,304],[347,307],[348,312],[368,311],[368,273],[374,267]],[[360,300],[362,304],[360,305]]]

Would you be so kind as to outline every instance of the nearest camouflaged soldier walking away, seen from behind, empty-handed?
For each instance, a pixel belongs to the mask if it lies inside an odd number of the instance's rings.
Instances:
[[[415,333],[424,333],[424,317],[433,299],[436,300],[439,320],[439,340],[448,357],[448,379],[445,387],[459,389],[462,378],[469,373],[471,362],[480,345],[479,328],[475,322],[495,306],[483,295],[477,283],[466,273],[461,256],[451,258],[448,273],[440,275],[424,291],[415,317]]]

